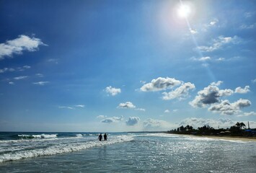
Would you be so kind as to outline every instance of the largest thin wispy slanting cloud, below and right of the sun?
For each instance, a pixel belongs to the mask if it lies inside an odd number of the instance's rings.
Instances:
[[[233,43],[237,44],[240,42],[240,38],[235,35],[234,37],[223,37],[219,36],[218,39],[213,40],[213,44],[210,46],[198,46],[198,50],[203,51],[203,52],[212,52],[214,50],[219,50],[222,48],[224,45]]]

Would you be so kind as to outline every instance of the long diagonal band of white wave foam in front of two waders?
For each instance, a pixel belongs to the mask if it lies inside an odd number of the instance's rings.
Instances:
[[[110,138],[110,141],[87,141],[79,143],[58,143],[54,146],[48,148],[37,148],[25,151],[15,151],[9,154],[2,154],[0,156],[0,162],[4,161],[14,161],[19,159],[25,159],[36,156],[48,156],[54,154],[62,154],[71,151],[79,151],[87,148],[105,146],[113,143],[121,143],[125,141],[132,141],[133,136],[115,136],[115,138]]]

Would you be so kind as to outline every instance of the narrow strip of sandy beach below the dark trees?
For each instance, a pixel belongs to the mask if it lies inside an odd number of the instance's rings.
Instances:
[[[223,140],[236,140],[236,141],[252,141],[256,142],[256,137],[244,137],[244,136],[211,136],[211,135],[187,135],[187,134],[176,134],[176,133],[169,133],[175,134],[179,136],[190,136],[192,138],[213,138],[213,139],[223,139]]]

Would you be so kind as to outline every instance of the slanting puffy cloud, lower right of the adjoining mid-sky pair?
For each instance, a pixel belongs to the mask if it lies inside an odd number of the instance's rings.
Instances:
[[[162,99],[175,99],[175,98],[185,98],[188,95],[189,90],[195,89],[195,85],[190,82],[184,83],[181,86],[177,87],[175,90],[171,92],[163,92],[164,95]]]

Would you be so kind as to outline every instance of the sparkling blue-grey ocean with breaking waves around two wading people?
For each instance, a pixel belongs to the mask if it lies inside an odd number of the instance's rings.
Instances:
[[[0,133],[0,172],[256,172],[256,142],[167,133]]]

